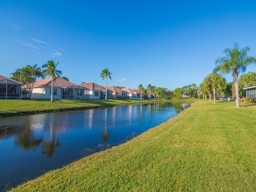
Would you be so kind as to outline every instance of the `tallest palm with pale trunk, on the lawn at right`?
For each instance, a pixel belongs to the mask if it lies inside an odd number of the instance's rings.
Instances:
[[[238,89],[238,75],[240,72],[245,72],[248,65],[256,63],[256,58],[247,56],[250,51],[249,47],[240,49],[238,43],[234,43],[234,48],[224,49],[225,57],[217,58],[215,61],[216,67],[214,72],[222,72],[223,74],[232,73],[235,81],[236,89],[236,107],[239,106],[239,89]]]

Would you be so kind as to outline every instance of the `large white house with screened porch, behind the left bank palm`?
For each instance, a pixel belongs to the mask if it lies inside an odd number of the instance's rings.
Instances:
[[[87,88],[78,86],[62,78],[56,78],[53,83],[55,99],[88,99],[85,95]],[[52,78],[35,82],[31,98],[50,99],[52,93]]]

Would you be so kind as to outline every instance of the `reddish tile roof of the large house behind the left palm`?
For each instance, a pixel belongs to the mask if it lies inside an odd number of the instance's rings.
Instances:
[[[34,84],[34,87],[42,87],[42,86],[44,86],[44,87],[52,86],[52,78],[42,79],[42,80],[35,82],[35,84]],[[72,82],[69,82],[67,80],[64,80],[62,78],[56,78],[56,80],[54,81],[54,87],[68,87],[68,86],[76,87],[78,85],[74,84]]]

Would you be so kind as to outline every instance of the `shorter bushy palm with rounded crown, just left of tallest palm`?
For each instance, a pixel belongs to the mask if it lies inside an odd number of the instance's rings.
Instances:
[[[221,91],[226,88],[226,79],[217,73],[210,74],[209,78],[213,89],[214,103],[216,103],[216,90]]]

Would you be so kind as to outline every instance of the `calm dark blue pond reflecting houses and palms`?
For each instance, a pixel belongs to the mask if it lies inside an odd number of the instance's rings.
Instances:
[[[156,102],[0,118],[0,191],[122,144],[188,106]]]

